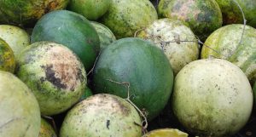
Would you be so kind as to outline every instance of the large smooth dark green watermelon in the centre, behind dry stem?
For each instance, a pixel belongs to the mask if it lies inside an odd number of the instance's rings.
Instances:
[[[130,83],[131,101],[148,120],[166,106],[172,93],[173,72],[166,55],[153,43],[139,38],[124,38],[102,50],[93,74],[94,91],[127,98]]]

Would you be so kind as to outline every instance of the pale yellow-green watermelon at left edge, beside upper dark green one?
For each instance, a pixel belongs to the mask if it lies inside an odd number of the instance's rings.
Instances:
[[[0,25],[0,37],[14,51],[15,58],[30,44],[30,36],[17,26]]]

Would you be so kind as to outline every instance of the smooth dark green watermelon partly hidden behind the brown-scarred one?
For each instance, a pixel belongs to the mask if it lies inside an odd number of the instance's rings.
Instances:
[[[67,10],[45,14],[32,31],[32,43],[51,41],[73,50],[90,71],[100,51],[100,39],[90,21]]]

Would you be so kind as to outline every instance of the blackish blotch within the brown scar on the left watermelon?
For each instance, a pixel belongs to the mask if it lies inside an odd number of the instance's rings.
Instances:
[[[54,84],[58,89],[66,89],[67,85],[61,83],[61,79],[55,77],[55,71],[53,70],[52,65],[41,66],[45,70],[45,80],[49,81],[50,83]]]

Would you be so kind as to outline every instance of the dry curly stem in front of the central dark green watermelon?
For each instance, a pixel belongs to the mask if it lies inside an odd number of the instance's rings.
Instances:
[[[115,82],[111,79],[107,79],[109,82],[111,83],[116,83],[116,84],[119,84],[119,85],[125,85],[125,87],[127,88],[127,98],[125,99],[126,101],[128,101],[131,106],[134,106],[135,109],[140,113],[141,117],[143,117],[143,122],[142,122],[142,125],[140,125],[142,128],[143,128],[143,134],[146,134],[147,133],[147,128],[148,128],[148,120],[147,120],[147,117],[145,116],[145,114],[143,113],[143,111],[141,111],[131,100],[130,100],[130,83],[127,83],[127,82],[122,82],[122,83],[119,83],[119,82]],[[136,125],[139,125],[138,123]]]

